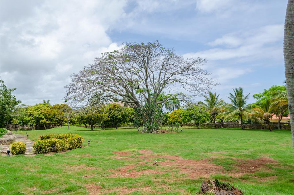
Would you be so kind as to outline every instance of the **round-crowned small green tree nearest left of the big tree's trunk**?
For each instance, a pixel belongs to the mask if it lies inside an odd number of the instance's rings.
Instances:
[[[106,106],[106,114],[108,115],[108,122],[112,125],[117,125],[126,122],[127,113],[126,109],[117,103],[111,103]]]

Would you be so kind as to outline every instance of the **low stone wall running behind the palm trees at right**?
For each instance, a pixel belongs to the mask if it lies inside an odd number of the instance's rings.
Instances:
[[[236,122],[237,123],[237,122]],[[224,122],[223,128],[241,128],[241,124],[236,124],[235,122]],[[197,126],[196,123],[186,123],[186,126]],[[199,126],[202,127],[211,127],[214,128],[213,123],[203,123]],[[277,125],[271,125],[273,129],[277,129]],[[216,127],[220,128],[220,123],[216,123]],[[244,124],[245,129],[268,129],[268,125],[263,124]],[[290,124],[283,124],[281,125],[281,129],[291,130]]]

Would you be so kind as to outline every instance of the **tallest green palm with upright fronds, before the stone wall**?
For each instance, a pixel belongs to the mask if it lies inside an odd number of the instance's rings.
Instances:
[[[223,115],[225,118],[239,117],[242,130],[245,130],[243,119],[247,119],[251,116],[251,110],[246,107],[246,101],[250,93],[244,96],[242,87],[233,89],[233,92],[234,93],[230,93],[230,97],[228,97],[231,101],[231,103],[228,104],[228,111],[220,113],[219,116]]]

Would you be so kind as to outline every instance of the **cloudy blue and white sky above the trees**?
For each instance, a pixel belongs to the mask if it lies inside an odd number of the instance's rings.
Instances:
[[[123,42],[154,42],[203,66],[228,101],[283,85],[287,0],[0,0],[0,77],[27,105],[62,103],[70,75]],[[197,98],[203,100],[203,97]]]

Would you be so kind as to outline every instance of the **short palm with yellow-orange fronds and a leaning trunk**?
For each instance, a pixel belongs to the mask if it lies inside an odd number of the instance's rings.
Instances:
[[[264,122],[268,125],[268,129],[270,131],[273,131],[273,127],[270,125],[270,118],[272,118],[274,114],[271,113],[272,110],[270,107],[270,101],[266,100],[262,102],[260,106],[255,105],[254,108],[252,108],[252,110],[252,116],[264,120]]]

